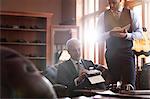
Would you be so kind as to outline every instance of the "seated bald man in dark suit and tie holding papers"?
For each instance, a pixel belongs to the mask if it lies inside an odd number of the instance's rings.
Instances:
[[[92,61],[80,59],[80,43],[77,39],[70,39],[66,43],[71,58],[59,64],[57,71],[57,83],[66,85],[73,95],[73,90],[84,88],[105,89],[104,82],[91,84],[88,79],[88,70],[96,69]]]

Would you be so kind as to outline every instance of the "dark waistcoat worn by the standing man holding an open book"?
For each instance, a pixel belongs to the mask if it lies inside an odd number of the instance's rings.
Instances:
[[[119,19],[113,16],[111,10],[107,10],[104,13],[105,32],[110,31],[114,27],[124,27],[128,24],[132,24],[130,10],[123,9]],[[128,32],[131,32],[132,25]],[[109,51],[120,51],[131,49],[133,42],[124,38],[110,37],[106,40],[106,48]]]

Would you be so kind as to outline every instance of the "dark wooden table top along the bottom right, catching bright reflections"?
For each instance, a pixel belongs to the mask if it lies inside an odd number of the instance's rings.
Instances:
[[[95,95],[100,95],[102,99],[150,99],[150,90],[134,90],[134,91],[120,91],[119,93],[113,93],[110,90],[75,90],[75,92],[83,93],[86,97],[93,97]],[[82,98],[77,98],[82,99]]]

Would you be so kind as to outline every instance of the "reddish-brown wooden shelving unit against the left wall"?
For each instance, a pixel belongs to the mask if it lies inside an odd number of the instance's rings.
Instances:
[[[1,11],[0,45],[22,53],[43,71],[52,64],[52,15]]]

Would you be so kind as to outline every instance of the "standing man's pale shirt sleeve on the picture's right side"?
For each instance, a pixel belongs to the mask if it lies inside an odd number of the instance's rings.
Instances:
[[[132,33],[127,33],[126,39],[128,40],[135,40],[135,39],[142,39],[142,25],[139,22],[138,16],[132,11],[131,11],[131,19],[132,19]]]

